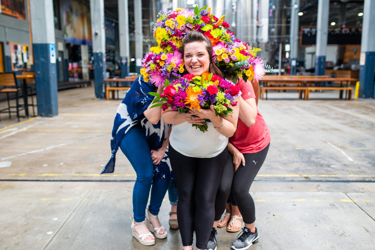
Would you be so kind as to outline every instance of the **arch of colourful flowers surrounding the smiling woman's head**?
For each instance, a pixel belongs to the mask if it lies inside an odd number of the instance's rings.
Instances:
[[[142,60],[141,75],[145,81],[150,80],[156,87],[162,86],[165,80],[172,84],[178,82],[186,73],[183,55],[179,51],[183,38],[192,30],[211,40],[213,62],[225,75],[233,76],[233,82],[240,77],[245,81],[259,81],[264,75],[264,64],[256,54],[261,49],[251,48],[237,39],[228,30],[229,24],[224,18],[225,15],[220,18],[214,16],[207,6],[201,9],[195,7],[194,10],[177,8],[160,11],[156,22],[151,23],[157,46],[151,47]]]

